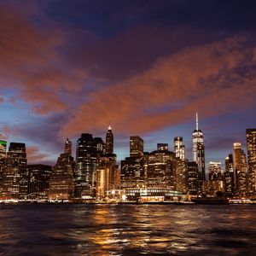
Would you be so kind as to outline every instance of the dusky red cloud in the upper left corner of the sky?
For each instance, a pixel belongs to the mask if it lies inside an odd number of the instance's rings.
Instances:
[[[50,28],[49,28],[50,27]],[[0,4],[0,86],[13,87],[35,112],[65,111],[61,94],[78,92],[86,73],[69,68],[56,52],[64,44],[54,26],[33,26],[20,10]]]

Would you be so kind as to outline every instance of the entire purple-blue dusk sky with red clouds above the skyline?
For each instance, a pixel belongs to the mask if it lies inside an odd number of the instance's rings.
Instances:
[[[255,99],[256,1],[0,0],[0,139],[29,163],[108,125],[118,160],[133,135],[145,151],[181,136],[191,160],[197,111],[207,164],[223,164]]]

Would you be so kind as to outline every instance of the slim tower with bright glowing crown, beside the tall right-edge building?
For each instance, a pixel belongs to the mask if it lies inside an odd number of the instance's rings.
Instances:
[[[245,194],[247,192],[247,160],[241,149],[241,143],[234,143],[234,171],[236,193]]]

